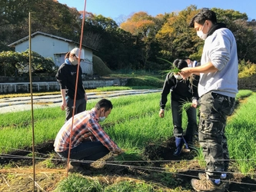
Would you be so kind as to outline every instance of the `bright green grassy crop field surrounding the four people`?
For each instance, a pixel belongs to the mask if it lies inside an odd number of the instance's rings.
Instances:
[[[241,99],[244,100],[241,100]],[[238,93],[238,108],[228,119],[227,137],[231,155],[232,167],[238,167],[244,175],[255,177],[256,146],[255,127],[256,119],[256,95],[252,91],[241,90]],[[114,105],[111,114],[101,125],[105,127],[110,137],[125,150],[125,154],[115,157],[117,164],[125,162],[141,161],[148,162],[145,151],[153,144],[153,149],[168,141],[172,135],[171,109],[168,101],[165,118],[158,117],[160,94],[142,94],[112,98]],[[97,101],[95,101],[96,103]],[[95,103],[88,103],[88,109],[93,108]],[[34,111],[35,118],[35,145],[44,144],[55,139],[56,134],[64,122],[65,112],[59,108],[43,108]],[[187,119],[184,115],[185,127]],[[9,154],[12,151],[22,151],[32,146],[32,124],[30,111],[2,114],[0,118],[0,151],[1,154]],[[155,157],[156,159],[158,157]],[[158,159],[161,161],[161,159]],[[194,159],[203,161],[201,153]],[[48,161],[48,160],[45,160]],[[145,164],[145,163],[143,163]],[[182,163],[183,167],[186,163]],[[140,164],[141,166],[141,164]],[[153,171],[155,180],[160,184],[153,184],[146,180],[125,179],[119,182],[106,183],[102,178],[83,177],[79,174],[71,174],[62,180],[56,191],[190,191],[190,187],[181,190],[180,181],[175,179],[174,173],[177,167],[173,164],[167,167],[158,167],[161,171]],[[201,168],[204,164],[201,164]],[[168,173],[171,173],[168,174]],[[165,186],[172,186],[167,190]],[[0,188],[1,189],[1,188]]]

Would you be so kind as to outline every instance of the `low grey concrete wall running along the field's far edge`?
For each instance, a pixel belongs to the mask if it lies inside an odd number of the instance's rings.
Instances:
[[[128,79],[98,79],[83,81],[85,89],[101,88],[107,86],[125,86]],[[59,91],[60,86],[57,81],[32,82],[33,92]],[[30,92],[30,82],[0,83],[0,94],[8,93],[28,93]]]

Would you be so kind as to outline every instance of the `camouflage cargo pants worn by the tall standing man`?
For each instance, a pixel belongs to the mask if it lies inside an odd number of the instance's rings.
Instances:
[[[206,161],[206,173],[212,178],[220,178],[221,172],[228,170],[224,129],[227,116],[234,111],[235,99],[210,91],[201,96],[200,103],[199,143]]]

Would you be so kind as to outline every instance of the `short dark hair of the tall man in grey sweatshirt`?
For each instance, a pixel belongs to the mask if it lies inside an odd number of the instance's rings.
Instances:
[[[210,20],[215,25],[217,23],[216,13],[209,8],[202,8],[201,11],[191,19],[189,26],[194,28],[194,22],[204,25],[205,20]]]

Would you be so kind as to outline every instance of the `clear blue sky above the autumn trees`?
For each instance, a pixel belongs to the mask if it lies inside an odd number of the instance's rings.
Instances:
[[[68,7],[84,10],[85,0],[58,0]],[[198,8],[234,9],[246,13],[249,21],[256,19],[255,0],[86,0],[86,12],[110,17],[115,21],[128,18],[135,12],[147,12],[148,15],[158,15],[178,12],[189,5]]]

